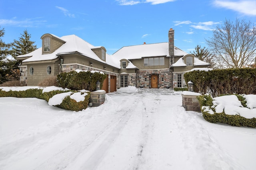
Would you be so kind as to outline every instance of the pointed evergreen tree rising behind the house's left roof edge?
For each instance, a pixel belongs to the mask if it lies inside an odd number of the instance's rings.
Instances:
[[[30,41],[31,35],[28,34],[27,30],[24,30],[24,33],[20,35],[19,41],[14,39],[12,44],[12,57],[14,59],[19,55],[28,54],[36,50],[36,45],[33,45],[35,42]]]

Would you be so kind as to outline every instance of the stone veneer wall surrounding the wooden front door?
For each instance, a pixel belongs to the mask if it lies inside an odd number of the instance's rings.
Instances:
[[[166,88],[166,86],[171,86],[171,75],[169,69],[165,70],[137,70],[136,71],[136,87],[139,88],[140,85],[143,88],[151,88],[151,75],[158,76],[158,88]],[[163,78],[163,81],[162,81]]]

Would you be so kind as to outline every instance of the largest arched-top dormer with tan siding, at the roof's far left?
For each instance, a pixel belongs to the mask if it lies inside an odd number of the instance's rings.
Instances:
[[[53,53],[56,49],[62,46],[66,41],[60,39],[56,35],[46,33],[42,35],[42,54]]]

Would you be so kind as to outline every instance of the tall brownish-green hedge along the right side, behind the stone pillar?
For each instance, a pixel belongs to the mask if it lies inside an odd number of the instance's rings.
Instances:
[[[256,68],[230,68],[212,71],[195,70],[184,74],[186,83],[194,83],[194,91],[221,94],[256,94]]]

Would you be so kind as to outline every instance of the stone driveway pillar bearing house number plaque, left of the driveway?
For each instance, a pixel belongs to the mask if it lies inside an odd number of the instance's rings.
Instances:
[[[90,103],[92,103],[92,107],[97,107],[103,104],[105,102],[105,95],[105,90],[90,92]]]

